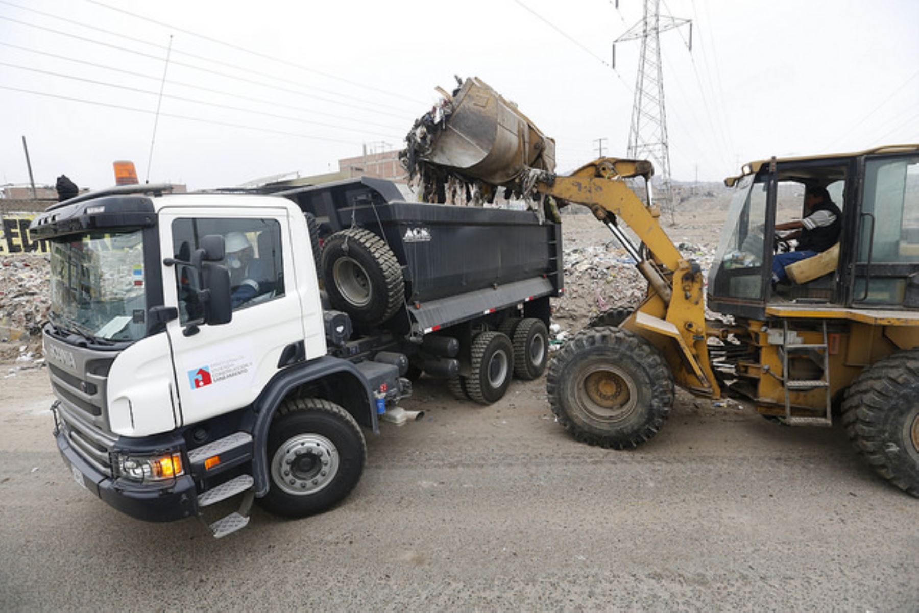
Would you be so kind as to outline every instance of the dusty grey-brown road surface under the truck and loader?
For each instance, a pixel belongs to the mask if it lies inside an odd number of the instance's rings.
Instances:
[[[2,376],[2,373],[0,373]],[[369,439],[343,505],[211,539],[77,488],[50,436],[43,371],[3,380],[0,609],[915,611],[919,501],[839,428],[792,429],[683,397],[634,452],[550,418],[542,382]]]

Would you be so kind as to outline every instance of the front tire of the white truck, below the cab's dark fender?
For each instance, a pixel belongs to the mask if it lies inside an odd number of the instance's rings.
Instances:
[[[297,453],[301,448],[313,452]],[[306,517],[331,508],[354,489],[367,444],[354,417],[337,404],[289,400],[268,431],[267,459],[271,485],[259,503],[279,516]]]

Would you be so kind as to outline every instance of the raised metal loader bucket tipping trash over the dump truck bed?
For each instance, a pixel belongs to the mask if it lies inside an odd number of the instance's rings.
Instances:
[[[555,141],[479,78],[466,79],[450,102],[443,130],[419,159],[494,185],[527,168],[555,170]]]

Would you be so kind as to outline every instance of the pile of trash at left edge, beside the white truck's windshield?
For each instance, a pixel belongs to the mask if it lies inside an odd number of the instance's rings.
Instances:
[[[51,304],[49,271],[48,255],[0,258],[0,350],[4,358],[40,358],[41,324],[47,321]]]

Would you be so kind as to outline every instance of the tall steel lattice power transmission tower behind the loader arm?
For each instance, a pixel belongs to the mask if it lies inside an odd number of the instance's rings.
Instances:
[[[674,199],[670,176],[670,146],[667,142],[667,116],[664,109],[664,64],[661,62],[661,32],[689,25],[689,50],[692,51],[692,22],[661,15],[660,0],[644,0],[644,17],[613,41],[641,40],[641,57],[635,80],[629,129],[629,157],[650,159],[661,175],[664,189],[658,200],[661,210],[674,220]]]

